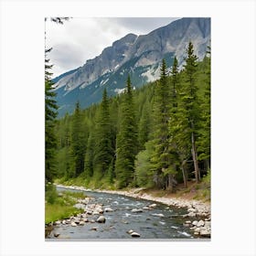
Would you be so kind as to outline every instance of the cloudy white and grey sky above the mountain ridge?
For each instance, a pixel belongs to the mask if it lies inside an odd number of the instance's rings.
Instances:
[[[47,20],[46,44],[52,47],[48,54],[53,77],[82,66],[87,59],[101,54],[103,48],[128,33],[145,35],[163,27],[176,17],[98,17],[71,18],[63,25]]]

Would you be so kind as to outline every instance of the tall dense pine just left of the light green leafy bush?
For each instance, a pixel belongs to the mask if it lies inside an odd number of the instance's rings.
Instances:
[[[134,160],[137,154],[137,127],[133,106],[133,91],[130,76],[121,105],[121,123],[116,141],[115,174],[118,187],[127,187],[133,182]]]

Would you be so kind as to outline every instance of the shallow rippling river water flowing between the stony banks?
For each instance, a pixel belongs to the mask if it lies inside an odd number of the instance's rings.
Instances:
[[[67,188],[58,187],[58,191]],[[69,189],[72,190],[72,189]],[[72,190],[78,191],[80,190]],[[105,223],[87,222],[84,226],[71,227],[60,224],[54,227],[48,240],[125,240],[132,238],[127,233],[130,229],[140,234],[141,239],[193,239],[193,233],[183,223],[182,215],[187,213],[186,208],[168,207],[161,203],[121,195],[86,191],[87,197],[92,197],[91,203],[102,204],[103,208],[110,207],[112,212],[104,212]],[[150,210],[143,209],[155,203],[156,207]],[[143,212],[133,213],[133,208],[143,209]],[[98,215],[91,215],[88,219],[98,219]],[[55,238],[54,233],[59,233]]]

